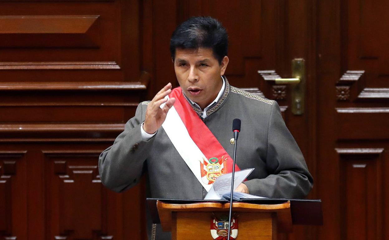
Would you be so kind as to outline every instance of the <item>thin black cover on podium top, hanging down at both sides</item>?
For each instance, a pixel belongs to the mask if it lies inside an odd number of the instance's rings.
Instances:
[[[187,199],[157,199],[147,198],[152,222],[161,223],[158,215],[157,200],[162,203],[170,204],[190,204],[190,203],[229,203],[228,200],[187,200]],[[282,204],[290,201],[290,210],[292,215],[292,224],[301,225],[322,225],[323,216],[321,210],[321,200],[302,200],[302,199],[284,199],[284,198],[263,198],[263,199],[242,199],[234,203],[253,203],[261,205]],[[234,208],[233,208],[234,209]]]

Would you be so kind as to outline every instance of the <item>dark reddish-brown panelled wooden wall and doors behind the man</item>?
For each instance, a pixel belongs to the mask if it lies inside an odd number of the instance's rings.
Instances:
[[[144,182],[105,189],[98,155],[140,101],[177,86],[168,49],[189,16],[230,35],[231,84],[279,102],[324,225],[281,239],[389,239],[385,0],[0,0],[0,239],[145,239]],[[305,113],[288,86],[304,58]],[[265,77],[266,78],[266,77]]]

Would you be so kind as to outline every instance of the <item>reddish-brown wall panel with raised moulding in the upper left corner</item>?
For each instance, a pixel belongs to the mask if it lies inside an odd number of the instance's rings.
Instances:
[[[137,0],[0,4],[2,82],[139,81]]]

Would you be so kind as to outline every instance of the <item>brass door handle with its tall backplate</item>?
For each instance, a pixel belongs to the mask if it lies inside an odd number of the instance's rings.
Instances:
[[[263,71],[258,71],[261,74]],[[291,84],[292,91],[292,112],[294,115],[302,115],[305,105],[305,60],[303,58],[295,58],[292,60],[292,78],[279,78],[279,75],[267,77],[266,81],[273,84]]]

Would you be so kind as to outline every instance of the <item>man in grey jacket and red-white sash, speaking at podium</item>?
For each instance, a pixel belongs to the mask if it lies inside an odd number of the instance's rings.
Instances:
[[[208,164],[221,169],[216,176],[231,172],[231,126],[240,118],[237,167],[255,169],[236,191],[272,198],[308,194],[312,176],[277,102],[230,86],[227,49],[228,35],[216,19],[190,18],[177,27],[170,51],[180,88],[168,83],[140,103],[102,152],[105,186],[124,191],[147,171],[151,197],[203,199],[214,180]]]

